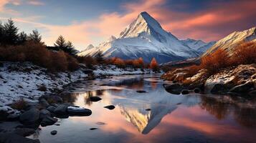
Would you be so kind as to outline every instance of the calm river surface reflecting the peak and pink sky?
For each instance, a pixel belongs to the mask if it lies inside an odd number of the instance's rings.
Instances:
[[[43,143],[256,142],[255,99],[174,95],[152,75],[83,81],[66,92],[70,92],[63,97],[66,102],[93,114],[59,119],[59,126],[40,127],[32,138]],[[90,102],[91,96],[102,100]],[[103,108],[110,104],[115,109]],[[52,136],[52,130],[57,134]]]

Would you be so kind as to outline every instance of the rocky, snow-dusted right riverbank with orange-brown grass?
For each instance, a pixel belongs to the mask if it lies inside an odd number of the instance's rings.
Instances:
[[[206,94],[256,95],[256,64],[241,64],[212,75],[206,69],[199,70],[191,77],[187,77],[187,73],[188,69],[179,68],[163,74],[161,78],[175,83],[166,85],[166,89],[174,94],[196,89]]]

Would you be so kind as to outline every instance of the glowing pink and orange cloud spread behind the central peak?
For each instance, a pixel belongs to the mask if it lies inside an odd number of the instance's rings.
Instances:
[[[1,0],[0,9],[4,7],[6,1],[8,0]],[[61,34],[81,48],[91,43],[97,45],[111,35],[118,36],[141,11],[147,11],[159,21],[163,29],[171,31],[179,39],[194,38],[204,41],[218,40],[232,31],[249,29],[253,26],[256,16],[256,1],[230,1],[224,4],[213,2],[211,8],[194,13],[174,11],[164,7],[165,4],[166,0],[140,0],[123,4],[121,7],[125,10],[124,14],[105,13],[98,19],[73,22],[65,26],[35,24],[34,21],[31,24],[36,28],[43,26],[47,29],[47,33],[43,35],[47,44],[53,44],[57,36]],[[181,7],[186,8],[186,4]]]

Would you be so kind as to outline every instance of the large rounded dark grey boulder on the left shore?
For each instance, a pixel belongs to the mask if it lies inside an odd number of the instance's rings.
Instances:
[[[36,124],[37,122],[39,122],[39,116],[40,116],[39,110],[32,108],[19,116],[19,122],[21,122],[22,124],[28,124],[28,125]]]

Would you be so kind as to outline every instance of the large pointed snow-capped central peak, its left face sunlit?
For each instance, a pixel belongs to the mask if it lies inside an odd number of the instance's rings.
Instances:
[[[122,59],[142,57],[146,62],[155,57],[158,63],[199,56],[196,50],[163,30],[158,21],[146,12],[139,14],[118,38],[111,36],[108,41],[82,51],[79,55],[94,55],[98,51],[102,51],[105,57],[118,56]]]

